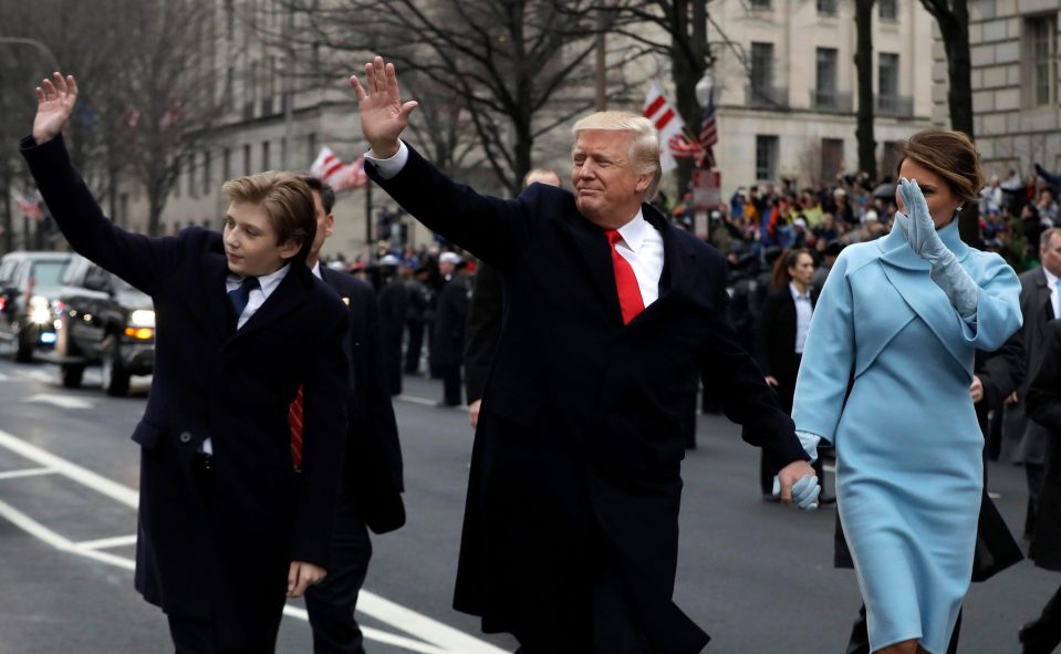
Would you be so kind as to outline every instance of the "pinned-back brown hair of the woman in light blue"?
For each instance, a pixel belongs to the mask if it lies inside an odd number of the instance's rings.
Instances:
[[[985,183],[980,153],[964,132],[923,129],[911,136],[903,148],[903,158],[895,167],[896,177],[906,159],[938,175],[950,193],[964,203],[979,200]]]

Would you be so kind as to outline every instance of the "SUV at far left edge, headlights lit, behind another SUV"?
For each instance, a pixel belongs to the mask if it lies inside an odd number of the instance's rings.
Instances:
[[[10,252],[0,259],[0,342],[28,362],[55,342],[56,302],[67,252]]]

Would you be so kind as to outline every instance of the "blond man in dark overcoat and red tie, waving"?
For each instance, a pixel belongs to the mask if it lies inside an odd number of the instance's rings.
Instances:
[[[457,185],[399,139],[393,64],[356,77],[368,174],[430,229],[501,272],[505,316],[472,448],[455,606],[524,654],[691,654],[708,636],[672,600],[701,366],[743,437],[816,481],[792,422],[725,320],[726,264],[649,205],[658,136],[633,114],[575,125],[571,191]],[[638,273],[639,271],[639,273]],[[644,282],[644,283],[643,283]],[[805,479],[805,480],[804,480]],[[808,492],[804,495],[804,489]]]

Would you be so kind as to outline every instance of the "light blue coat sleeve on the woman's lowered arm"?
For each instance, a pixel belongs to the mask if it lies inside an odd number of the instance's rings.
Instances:
[[[846,257],[840,253],[818,299],[795,382],[795,428],[835,443],[854,362],[854,315]]]

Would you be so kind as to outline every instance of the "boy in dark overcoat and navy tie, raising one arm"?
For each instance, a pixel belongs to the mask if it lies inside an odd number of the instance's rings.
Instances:
[[[73,77],[56,73],[37,94],[21,152],[55,221],[74,250],[152,295],[158,316],[152,393],[133,433],[136,589],[167,614],[178,654],[272,652],[284,596],[324,577],[345,442],[346,312],[304,263],[310,189],[292,175],[243,177],[223,187],[223,235],[126,232],[59,137]],[[288,405],[300,386],[297,476]]]

